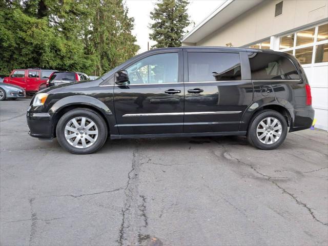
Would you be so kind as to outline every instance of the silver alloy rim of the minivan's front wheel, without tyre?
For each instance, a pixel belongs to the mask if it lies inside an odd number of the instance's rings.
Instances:
[[[75,117],[65,126],[65,138],[75,148],[92,146],[98,138],[98,127],[87,117]]]

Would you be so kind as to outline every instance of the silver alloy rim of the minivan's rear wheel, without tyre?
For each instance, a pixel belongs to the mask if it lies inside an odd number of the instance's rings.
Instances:
[[[275,117],[262,119],[256,128],[257,138],[265,145],[274,144],[279,140],[281,133],[281,122]]]

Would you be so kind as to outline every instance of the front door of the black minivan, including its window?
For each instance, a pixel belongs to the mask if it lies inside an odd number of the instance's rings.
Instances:
[[[114,86],[120,135],[183,132],[182,52],[141,58],[125,69],[129,83]]]

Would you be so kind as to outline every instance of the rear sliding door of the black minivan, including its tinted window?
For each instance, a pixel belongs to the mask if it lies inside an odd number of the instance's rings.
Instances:
[[[236,132],[252,103],[252,81],[242,80],[240,54],[185,52],[185,133]]]

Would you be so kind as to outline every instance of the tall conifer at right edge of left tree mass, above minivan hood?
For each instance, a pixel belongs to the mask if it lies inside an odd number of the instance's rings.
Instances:
[[[95,56],[94,74],[101,75],[134,56],[139,46],[131,33],[134,18],[128,17],[122,0],[98,1],[89,7],[93,15],[84,32],[85,44]]]

